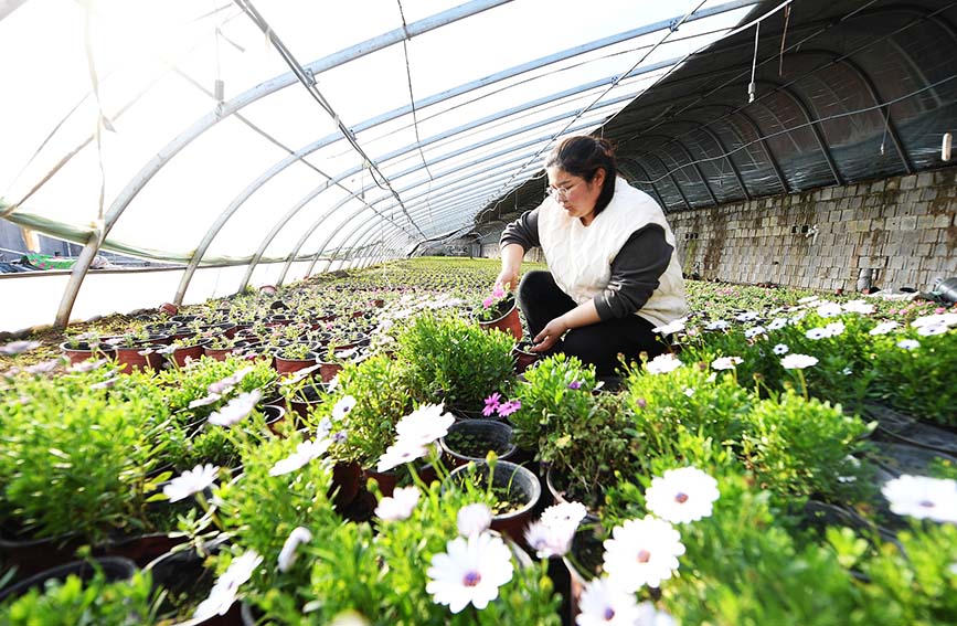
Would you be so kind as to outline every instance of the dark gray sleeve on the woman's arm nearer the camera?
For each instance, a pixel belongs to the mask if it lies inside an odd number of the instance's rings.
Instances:
[[[668,269],[673,251],[658,224],[631,233],[612,262],[608,286],[594,298],[602,321],[624,318],[644,307]]]

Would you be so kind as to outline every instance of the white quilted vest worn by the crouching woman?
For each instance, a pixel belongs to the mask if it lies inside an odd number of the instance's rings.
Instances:
[[[539,206],[539,241],[549,269],[559,287],[579,305],[605,289],[612,277],[612,262],[621,246],[635,231],[648,224],[664,229],[664,240],[677,247],[658,203],[621,178],[615,181],[612,202],[588,226],[570,216],[551,197]],[[681,266],[677,251],[672,251],[658,288],[636,315],[655,326],[663,326],[687,312]]]

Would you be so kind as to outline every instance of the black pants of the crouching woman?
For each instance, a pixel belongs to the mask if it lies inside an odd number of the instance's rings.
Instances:
[[[519,284],[519,307],[529,322],[529,333],[534,338],[545,326],[577,305],[562,291],[551,272],[529,272]],[[550,353],[564,352],[577,357],[584,363],[593,363],[599,376],[612,375],[620,364],[618,354],[627,361],[637,361],[641,352],[648,358],[666,351],[664,339],[651,329],[647,319],[629,315],[623,319],[609,319],[591,326],[573,328],[552,348]]]

